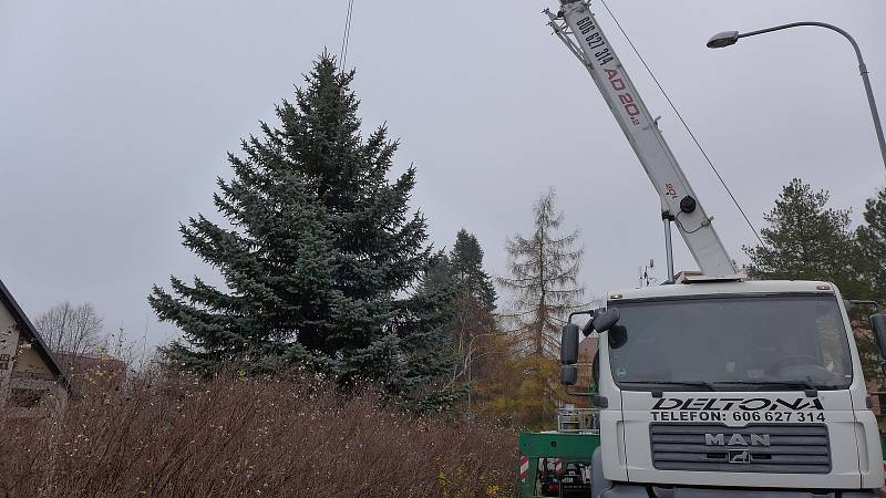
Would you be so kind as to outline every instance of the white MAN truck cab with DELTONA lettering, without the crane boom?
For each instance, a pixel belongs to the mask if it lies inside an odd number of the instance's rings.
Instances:
[[[607,308],[595,498],[878,496],[877,423],[833,284],[677,283]]]

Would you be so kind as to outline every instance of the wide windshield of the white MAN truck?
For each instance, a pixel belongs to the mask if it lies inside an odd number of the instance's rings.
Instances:
[[[618,303],[609,363],[622,390],[843,390],[852,357],[834,295]],[[616,341],[616,338],[619,338]]]

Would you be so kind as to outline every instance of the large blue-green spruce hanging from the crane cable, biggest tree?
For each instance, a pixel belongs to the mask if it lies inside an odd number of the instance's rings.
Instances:
[[[196,277],[154,287],[151,305],[184,333],[166,351],[175,364],[305,363],[412,398],[451,371],[445,303],[410,292],[431,257],[425,218],[410,214],[415,169],[387,178],[398,143],[384,126],[360,135],[353,77],[321,55],[295,102],[277,106],[278,127],[261,123],[243,155],[228,154],[234,178],[218,178],[214,196],[227,224],[198,215],[181,226],[226,288]]]

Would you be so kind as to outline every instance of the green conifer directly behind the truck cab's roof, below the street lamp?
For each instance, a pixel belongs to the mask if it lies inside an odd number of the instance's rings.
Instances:
[[[764,246],[744,247],[749,274],[764,279],[825,280],[848,297],[866,294],[849,211],[827,207],[830,194],[794,178],[782,188],[760,235]]]

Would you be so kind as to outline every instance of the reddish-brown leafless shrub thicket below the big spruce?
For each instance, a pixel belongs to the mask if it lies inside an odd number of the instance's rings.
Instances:
[[[516,434],[323,382],[150,376],[3,421],[0,496],[514,496]]]

